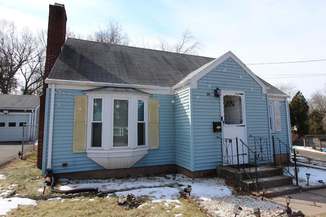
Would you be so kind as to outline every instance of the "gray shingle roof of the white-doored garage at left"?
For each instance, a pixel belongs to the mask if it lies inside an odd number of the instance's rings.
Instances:
[[[0,109],[36,109],[39,105],[38,96],[0,94]]]

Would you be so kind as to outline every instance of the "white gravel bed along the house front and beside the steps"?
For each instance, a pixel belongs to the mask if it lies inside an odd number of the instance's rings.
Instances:
[[[138,183],[144,184],[145,183],[151,183],[155,182],[157,185],[157,182],[161,183],[162,185],[166,183],[171,183],[171,174],[166,175],[151,175],[151,176],[136,176],[136,177],[128,177],[125,179],[91,179],[91,180],[68,180],[68,179],[60,179],[61,184],[69,183],[69,184],[83,184],[83,183],[94,183],[94,182],[100,182],[100,183],[113,183],[113,182],[133,182],[134,186]],[[190,178],[183,174],[177,174],[177,178],[175,180],[179,185],[183,185],[185,183],[188,184],[194,184],[194,183],[207,183],[209,185],[213,186],[221,186],[225,189],[231,189],[231,191],[234,193],[232,187],[229,187],[225,183],[225,179],[218,178],[218,177],[212,177],[212,178]],[[104,186],[104,185],[103,185]],[[145,187],[145,186],[141,186]],[[145,187],[146,188],[146,187]],[[119,189],[122,191],[122,189]],[[209,189],[207,189],[209,191]],[[256,196],[247,196],[247,195],[237,195],[232,194],[228,196],[215,196],[213,198],[210,198],[208,200],[203,200],[200,197],[191,197],[196,203],[199,204],[201,208],[206,210],[209,214],[215,215],[215,216],[234,216],[233,213],[233,207],[234,205],[238,205],[242,208],[242,211],[240,215],[238,216],[255,216],[253,214],[253,208],[260,208],[261,216],[276,216],[280,213],[282,213],[283,209],[285,208],[282,205],[279,205],[274,202],[261,200],[261,198]]]

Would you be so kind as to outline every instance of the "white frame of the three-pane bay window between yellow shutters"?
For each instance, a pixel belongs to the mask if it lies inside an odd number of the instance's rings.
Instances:
[[[125,94],[123,92],[88,92],[88,121],[86,151],[103,153],[114,150],[148,149],[148,99],[149,96]],[[93,118],[93,100],[102,99],[102,147],[91,147],[91,124]],[[114,100],[128,100],[128,146],[113,147],[113,106]],[[138,145],[138,100],[144,101],[145,145]]]

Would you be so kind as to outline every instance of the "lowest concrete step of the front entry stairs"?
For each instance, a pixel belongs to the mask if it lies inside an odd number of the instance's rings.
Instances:
[[[264,198],[272,198],[282,195],[294,194],[299,193],[302,191],[302,187],[296,186],[293,184],[282,185],[278,187],[267,188],[267,192],[264,194]],[[258,193],[257,191],[252,192],[254,195],[262,196],[263,192],[260,190]]]

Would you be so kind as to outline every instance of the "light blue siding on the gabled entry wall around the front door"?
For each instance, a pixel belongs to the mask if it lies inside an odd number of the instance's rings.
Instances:
[[[248,145],[254,136],[269,137],[268,103],[261,86],[231,57],[198,81],[192,89],[195,171],[214,169],[222,164],[221,133],[214,133],[212,122],[221,121],[220,98],[214,89],[244,91]],[[210,96],[208,96],[210,95]]]

